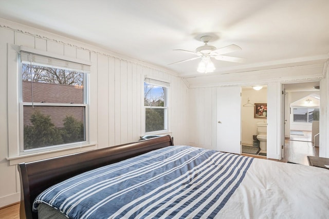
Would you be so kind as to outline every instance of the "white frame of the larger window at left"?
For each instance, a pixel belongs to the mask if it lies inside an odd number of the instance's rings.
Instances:
[[[71,62],[71,63],[80,63],[85,65],[84,62],[75,62],[69,60],[70,58],[58,58],[54,57],[52,55],[45,55],[45,54],[39,54],[35,52],[29,52],[29,51],[22,51],[25,53],[32,53],[38,56],[45,56],[53,59],[60,59],[65,62]],[[18,101],[19,101],[19,133],[18,133],[18,143],[19,143],[19,155],[28,155],[28,154],[35,154],[40,152],[46,152],[46,151],[56,151],[61,149],[70,149],[77,146],[87,146],[89,145],[89,74],[88,71],[85,70],[79,70],[79,72],[83,73],[83,103],[82,104],[70,104],[70,103],[35,103],[35,102],[23,102],[23,62],[21,60],[21,52],[17,55],[18,59],[17,62],[19,63],[19,75],[18,75],[18,84],[19,84],[19,93],[18,93]],[[33,63],[32,65],[38,65],[36,63]],[[42,64],[39,64],[40,66],[44,66]],[[90,65],[89,65],[90,66]],[[59,68],[59,69],[65,69],[60,66],[52,66],[53,68]],[[67,106],[67,107],[84,107],[84,141],[81,142],[74,142],[74,143],[66,143],[61,145],[52,145],[52,146],[45,146],[45,147],[39,147],[39,148],[31,148],[31,149],[24,149],[24,106]]]

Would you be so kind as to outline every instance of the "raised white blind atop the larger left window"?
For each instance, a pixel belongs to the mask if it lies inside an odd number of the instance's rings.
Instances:
[[[60,67],[71,71],[90,72],[89,65],[23,51],[21,52],[21,62],[26,64],[31,63],[32,65],[43,65],[46,67]]]

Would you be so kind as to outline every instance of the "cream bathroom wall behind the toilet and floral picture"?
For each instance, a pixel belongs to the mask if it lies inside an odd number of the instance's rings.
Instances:
[[[261,90],[254,90],[251,87],[243,87],[241,95],[241,127],[242,127],[242,145],[252,145],[252,135],[257,134],[257,123],[263,121],[262,118],[254,118],[255,103],[266,104],[267,103],[267,88],[263,87]],[[244,106],[245,105],[245,106]]]

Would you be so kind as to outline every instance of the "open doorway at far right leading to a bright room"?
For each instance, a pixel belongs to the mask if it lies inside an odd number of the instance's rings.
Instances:
[[[319,82],[284,84],[283,161],[308,165],[319,156]]]

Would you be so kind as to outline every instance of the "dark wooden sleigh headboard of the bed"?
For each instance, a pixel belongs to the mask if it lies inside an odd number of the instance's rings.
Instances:
[[[166,135],[42,161],[21,163],[17,167],[21,177],[20,217],[38,218],[38,214],[32,212],[34,199],[54,184],[85,171],[171,145],[173,145],[172,137]]]

